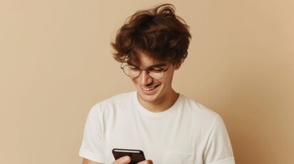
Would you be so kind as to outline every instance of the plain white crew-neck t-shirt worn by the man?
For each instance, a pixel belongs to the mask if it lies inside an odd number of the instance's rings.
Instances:
[[[97,103],[88,114],[79,155],[110,164],[114,148],[143,150],[154,164],[234,164],[221,117],[183,95],[160,113],[142,107],[136,92]]]

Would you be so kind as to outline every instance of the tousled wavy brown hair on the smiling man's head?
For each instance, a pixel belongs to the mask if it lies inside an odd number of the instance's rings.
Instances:
[[[189,27],[169,3],[140,10],[127,18],[111,43],[114,59],[130,63],[143,52],[158,61],[177,64],[188,55]]]

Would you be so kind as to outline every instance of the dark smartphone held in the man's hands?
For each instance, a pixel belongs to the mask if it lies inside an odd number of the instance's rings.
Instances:
[[[113,149],[112,154],[114,156],[114,159],[117,160],[121,158],[122,156],[130,156],[131,162],[130,164],[136,164],[140,161],[145,161],[145,156],[142,150],[130,150],[130,149]]]

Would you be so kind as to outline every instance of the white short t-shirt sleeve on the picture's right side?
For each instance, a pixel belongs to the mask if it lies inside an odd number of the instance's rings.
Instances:
[[[206,150],[204,152],[205,164],[234,164],[234,154],[228,131],[221,117],[215,121]]]

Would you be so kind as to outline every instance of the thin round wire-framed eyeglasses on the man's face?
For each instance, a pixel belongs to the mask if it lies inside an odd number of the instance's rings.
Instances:
[[[171,64],[169,64],[169,66],[171,66]],[[123,70],[123,72],[125,72],[125,74],[127,74],[128,77],[132,77],[132,78],[139,77],[140,74],[143,72],[142,69],[137,68],[136,66],[132,66],[132,65],[123,66],[123,63],[121,63],[121,69]],[[152,79],[158,80],[164,77],[164,72],[166,72],[168,69],[169,67],[167,67],[167,69],[164,70],[158,66],[152,66],[147,68],[147,70],[145,71],[147,72],[149,77],[151,77]]]

